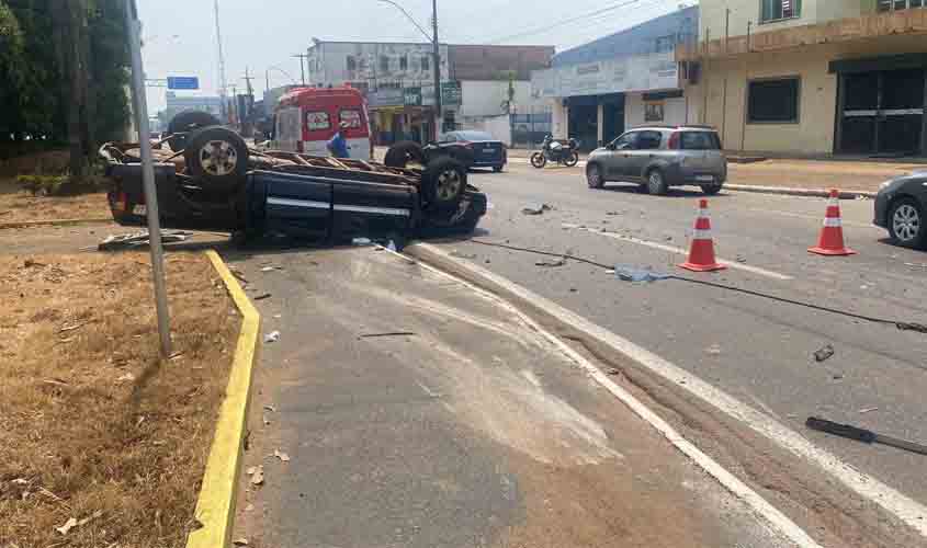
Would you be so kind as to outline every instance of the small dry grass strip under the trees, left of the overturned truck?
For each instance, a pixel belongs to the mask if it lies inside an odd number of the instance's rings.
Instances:
[[[13,180],[0,180],[0,224],[29,220],[89,219],[110,216],[106,193],[33,196]]]

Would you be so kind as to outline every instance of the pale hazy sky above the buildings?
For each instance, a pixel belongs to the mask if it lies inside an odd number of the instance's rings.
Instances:
[[[396,0],[428,28],[431,0]],[[439,35],[450,44],[540,44],[563,50],[678,9],[682,0],[438,0]],[[691,1],[687,2],[693,3]],[[620,9],[569,24],[504,39],[610,5]],[[626,4],[626,5],[625,5]],[[213,0],[139,0],[148,78],[199,76],[202,93],[218,83]],[[378,0],[219,0],[229,85],[245,89],[245,68],[258,96],[265,71],[279,67],[299,80],[299,59],[312,38],[332,41],[423,39],[394,7]],[[290,83],[270,70],[271,87]],[[149,111],[165,106],[165,90],[148,93]]]

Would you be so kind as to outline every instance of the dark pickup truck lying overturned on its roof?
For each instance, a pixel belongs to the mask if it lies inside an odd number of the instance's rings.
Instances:
[[[237,133],[206,122],[155,144],[158,208],[166,228],[340,243],[359,237],[470,232],[486,214],[486,195],[468,185],[466,168],[446,156],[422,160],[420,167],[405,161],[387,167],[258,151]],[[113,218],[144,225],[138,145],[110,142],[100,155],[114,182],[109,194]],[[396,156],[391,156],[394,165]]]

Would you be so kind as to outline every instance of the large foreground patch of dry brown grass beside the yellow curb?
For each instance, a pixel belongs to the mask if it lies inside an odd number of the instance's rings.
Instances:
[[[146,254],[0,258],[0,546],[183,546],[239,318],[203,255],[167,270],[160,363]]]

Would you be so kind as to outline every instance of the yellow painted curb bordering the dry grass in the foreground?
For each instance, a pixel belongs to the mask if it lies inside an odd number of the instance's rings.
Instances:
[[[261,329],[261,315],[248,300],[218,253],[206,251],[206,256],[225,283],[231,300],[241,312],[242,320],[228,375],[228,388],[219,408],[215,437],[203,475],[200,499],[196,501],[195,516],[202,527],[186,538],[186,548],[224,548],[231,541],[241,449],[248,430],[251,376],[258,356],[258,336]]]

